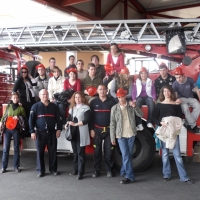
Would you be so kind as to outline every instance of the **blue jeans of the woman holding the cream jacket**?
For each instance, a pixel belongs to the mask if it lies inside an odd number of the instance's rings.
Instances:
[[[163,162],[163,178],[171,178],[171,167],[169,161],[169,149],[166,149],[166,143],[161,141],[162,146],[162,162]],[[183,160],[180,153],[180,143],[179,136],[176,138],[176,143],[174,148],[172,149],[174,159],[176,162],[176,167],[178,169],[178,174],[180,177],[180,181],[185,181],[188,178],[187,173],[185,171],[185,167],[183,165]]]

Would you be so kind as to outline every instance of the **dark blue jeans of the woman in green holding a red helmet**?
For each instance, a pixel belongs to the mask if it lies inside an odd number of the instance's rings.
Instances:
[[[6,129],[4,133],[4,145],[3,145],[3,156],[2,156],[2,168],[6,169],[8,167],[8,159],[9,159],[9,150],[10,150],[10,142],[11,138],[14,140],[14,168],[17,169],[19,167],[19,141],[20,135],[19,131]]]

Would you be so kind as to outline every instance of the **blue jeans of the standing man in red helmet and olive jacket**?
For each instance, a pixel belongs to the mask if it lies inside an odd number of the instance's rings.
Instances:
[[[119,138],[117,139],[119,143],[119,148],[122,153],[122,167],[120,170],[120,175],[124,176],[125,178],[130,179],[131,181],[135,180],[133,166],[131,162],[131,158],[133,155],[133,147],[135,136],[131,138]]]

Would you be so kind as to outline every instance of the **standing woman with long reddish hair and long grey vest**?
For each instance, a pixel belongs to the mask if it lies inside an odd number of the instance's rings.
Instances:
[[[70,175],[77,175],[81,180],[85,173],[85,146],[90,144],[88,123],[90,121],[90,107],[82,92],[75,92],[71,98],[67,124],[77,127],[71,141],[74,156],[74,171]]]

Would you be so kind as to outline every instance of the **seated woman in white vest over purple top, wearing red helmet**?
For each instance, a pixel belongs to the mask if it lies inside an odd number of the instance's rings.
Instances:
[[[148,106],[148,118],[147,118],[147,127],[153,128],[152,118],[154,110],[154,101],[156,101],[156,88],[153,81],[148,78],[148,71],[145,67],[140,69],[138,78],[133,84],[132,90],[132,100],[136,102],[138,107],[146,104]],[[144,129],[142,125],[142,119],[137,118],[137,130],[142,131]]]

